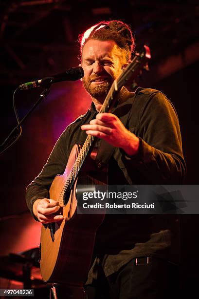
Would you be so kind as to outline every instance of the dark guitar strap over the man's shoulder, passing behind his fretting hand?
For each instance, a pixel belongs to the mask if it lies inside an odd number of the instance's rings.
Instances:
[[[122,95],[119,99],[119,104],[112,109],[111,113],[115,114],[126,127],[135,94],[128,92],[125,87],[123,87],[121,92]],[[103,168],[108,164],[109,159],[116,148],[103,139],[98,139],[96,146],[98,147],[98,152],[95,163],[98,168]]]

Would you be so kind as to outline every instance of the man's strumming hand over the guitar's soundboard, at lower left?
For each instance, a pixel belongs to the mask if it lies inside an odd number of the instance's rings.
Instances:
[[[57,214],[59,209],[59,203],[48,198],[37,199],[33,204],[34,215],[44,224],[62,220],[63,215]]]

